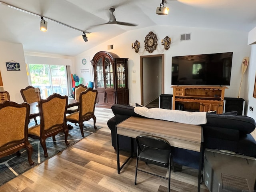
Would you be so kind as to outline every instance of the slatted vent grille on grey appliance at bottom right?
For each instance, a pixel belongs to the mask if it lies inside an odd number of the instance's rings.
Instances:
[[[249,191],[248,182],[245,178],[240,178],[221,173],[222,189],[232,192]]]

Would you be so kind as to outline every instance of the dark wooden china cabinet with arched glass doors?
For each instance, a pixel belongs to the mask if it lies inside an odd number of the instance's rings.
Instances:
[[[100,51],[92,58],[97,107],[129,104],[127,61],[128,58],[119,58],[106,51]]]

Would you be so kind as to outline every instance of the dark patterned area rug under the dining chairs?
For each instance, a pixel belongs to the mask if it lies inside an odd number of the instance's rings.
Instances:
[[[32,166],[28,163],[26,149],[20,150],[21,156],[19,157],[16,156],[16,154],[12,154],[0,158],[0,186],[83,139],[79,126],[72,123],[69,124],[73,127],[68,132],[68,141],[70,144],[68,146],[65,144],[64,133],[57,134],[56,141],[53,141],[52,137],[47,138],[47,158],[44,157],[44,150],[40,141],[29,138],[29,142],[33,146],[32,160],[35,162]],[[97,126],[97,129],[95,130],[93,125],[84,124],[84,138],[100,128],[101,127]]]

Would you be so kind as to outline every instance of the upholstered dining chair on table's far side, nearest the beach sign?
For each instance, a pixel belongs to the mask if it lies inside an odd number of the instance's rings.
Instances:
[[[24,89],[20,90],[20,94],[24,100],[24,102],[27,102],[28,104],[38,102],[41,100],[41,91],[40,88],[38,88],[38,93],[35,92],[35,87],[33,86],[27,86]],[[37,125],[37,120],[36,117],[34,118],[36,125]]]

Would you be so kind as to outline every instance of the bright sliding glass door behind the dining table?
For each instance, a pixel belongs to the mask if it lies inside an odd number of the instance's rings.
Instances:
[[[64,65],[28,64],[30,84],[40,88],[42,98],[53,93],[67,95],[67,74]]]

